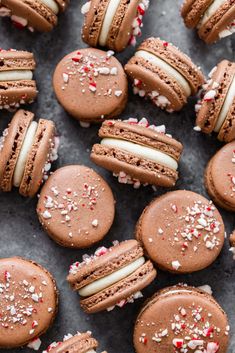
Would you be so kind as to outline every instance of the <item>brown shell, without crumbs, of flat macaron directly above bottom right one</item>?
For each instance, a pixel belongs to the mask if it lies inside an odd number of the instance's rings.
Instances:
[[[189,228],[187,209],[196,204],[208,205],[209,201],[203,196],[190,191],[178,190],[158,197],[143,211],[137,226],[136,238],[143,245],[149,258],[166,271],[174,273],[192,273],[208,267],[218,257],[224,244],[224,224],[218,212],[214,210],[213,219],[220,222],[219,231],[215,234],[218,243],[213,249],[206,247],[204,237],[207,231],[198,230],[201,236],[191,241],[183,237],[186,228]],[[199,216],[196,217],[199,219]],[[197,222],[194,221],[194,229]],[[172,229],[174,231],[172,231]],[[212,237],[212,235],[211,235]],[[176,238],[178,240],[176,240]],[[187,242],[187,249],[182,250]],[[197,250],[195,251],[194,246]],[[178,261],[180,266],[176,269],[173,264]]]

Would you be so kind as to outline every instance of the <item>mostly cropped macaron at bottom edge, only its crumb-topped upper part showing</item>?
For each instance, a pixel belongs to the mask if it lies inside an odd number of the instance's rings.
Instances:
[[[42,353],[95,353],[98,342],[92,337],[91,332],[80,333],[75,335],[65,335],[60,342],[53,342]],[[107,352],[102,352],[107,353]]]

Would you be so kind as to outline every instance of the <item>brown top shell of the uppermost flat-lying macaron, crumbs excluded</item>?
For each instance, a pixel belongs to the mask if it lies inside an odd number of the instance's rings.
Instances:
[[[78,65],[75,65],[72,58],[77,55],[77,51],[65,56],[57,65],[53,77],[53,86],[58,101],[64,109],[75,119],[84,122],[100,122],[104,118],[115,117],[125,108],[128,96],[127,78],[122,65],[115,57],[106,60],[107,53],[94,48],[81,49],[79,52],[92,61],[96,68],[109,67],[117,68],[117,75],[99,74],[94,80],[97,84],[96,92],[89,89],[90,81],[85,78],[82,83],[78,74]],[[96,58],[96,59],[95,59]],[[86,64],[80,64],[80,67]],[[69,69],[68,69],[69,67]],[[70,76],[68,84],[65,85],[63,73],[66,71],[75,71],[75,75]],[[84,76],[83,76],[84,78]],[[63,89],[65,87],[65,89]],[[111,96],[105,94],[111,89]],[[85,93],[83,93],[85,90]],[[121,95],[116,96],[115,91],[120,91]]]

